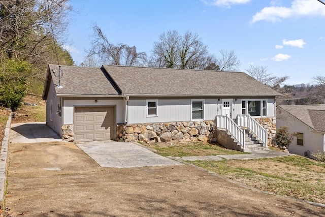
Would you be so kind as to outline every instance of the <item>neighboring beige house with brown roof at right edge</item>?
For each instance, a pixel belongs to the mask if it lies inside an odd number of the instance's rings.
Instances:
[[[311,157],[325,151],[325,105],[277,106],[277,127],[297,133],[289,152]]]

